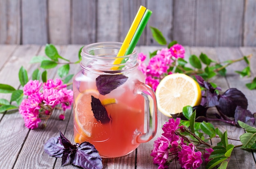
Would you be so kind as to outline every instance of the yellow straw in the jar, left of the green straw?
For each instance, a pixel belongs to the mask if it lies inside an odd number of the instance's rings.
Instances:
[[[132,37],[133,37],[133,35],[134,35],[138,25],[139,25],[139,22],[141,21],[141,18],[143,17],[143,14],[145,13],[145,11],[146,11],[145,7],[143,7],[143,6],[139,7],[139,10],[138,10],[131,26],[130,26],[130,29],[129,29],[128,33],[126,34],[126,37],[125,37],[124,42],[123,42],[123,44],[122,44],[122,46],[121,46],[121,48],[120,48],[120,50],[117,54],[117,57],[124,56],[124,54],[126,52],[126,49],[128,48],[128,46],[130,44],[130,41],[132,40]],[[121,58],[115,59],[114,64],[120,64],[121,61],[122,61]],[[117,69],[116,67],[112,68],[112,70],[116,70],[116,69]]]

